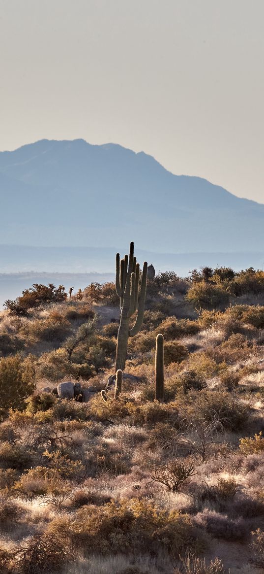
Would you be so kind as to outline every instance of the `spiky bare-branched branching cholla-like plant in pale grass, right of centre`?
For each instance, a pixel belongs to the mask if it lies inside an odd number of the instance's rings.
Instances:
[[[195,474],[195,460],[188,457],[170,460],[167,464],[154,468],[151,472],[151,480],[164,484],[172,492],[178,492],[184,484],[188,483],[190,476]]]

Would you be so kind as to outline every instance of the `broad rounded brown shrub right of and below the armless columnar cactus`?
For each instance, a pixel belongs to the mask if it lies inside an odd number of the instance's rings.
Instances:
[[[249,415],[247,406],[225,391],[205,389],[189,393],[188,401],[182,404],[187,420],[194,420],[198,425],[207,422],[216,432],[243,428]]]

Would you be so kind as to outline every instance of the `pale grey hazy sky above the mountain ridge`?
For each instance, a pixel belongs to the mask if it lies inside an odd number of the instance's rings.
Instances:
[[[264,203],[264,0],[0,0],[0,150],[115,142]]]

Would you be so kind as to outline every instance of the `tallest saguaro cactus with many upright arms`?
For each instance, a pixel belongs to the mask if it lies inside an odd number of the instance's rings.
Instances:
[[[129,257],[125,255],[120,261],[120,255],[116,255],[116,292],[120,298],[120,325],[117,333],[116,366],[115,370],[124,371],[125,359],[127,358],[128,337],[133,337],[139,332],[143,323],[145,294],[147,288],[148,263],[145,261],[141,276],[139,294],[140,267],[134,257],[134,244],[130,244]],[[129,329],[129,320],[137,312],[136,320]]]

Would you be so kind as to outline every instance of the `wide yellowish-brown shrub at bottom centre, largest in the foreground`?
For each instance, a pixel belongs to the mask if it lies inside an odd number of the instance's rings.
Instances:
[[[66,528],[88,553],[98,547],[104,554],[144,548],[153,554],[165,548],[177,553],[197,543],[187,515],[159,510],[148,501],[133,498],[120,504],[84,506]]]

